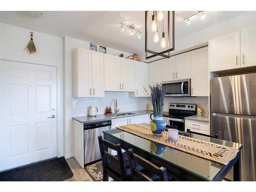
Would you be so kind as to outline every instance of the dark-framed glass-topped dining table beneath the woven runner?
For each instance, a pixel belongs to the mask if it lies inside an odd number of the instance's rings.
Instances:
[[[147,123],[140,124],[150,126]],[[177,180],[222,181],[232,168],[232,180],[241,180],[242,144],[182,131],[179,131],[179,135],[234,147],[237,148],[239,152],[227,165],[222,165],[119,129],[103,131],[104,139],[110,140],[114,143],[120,143],[124,150],[132,148],[134,153],[137,155],[140,155],[158,166],[164,166],[167,169],[167,173],[175,177]]]

